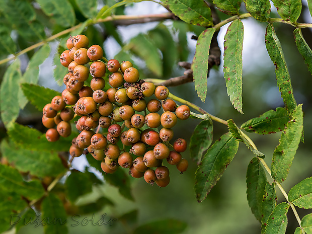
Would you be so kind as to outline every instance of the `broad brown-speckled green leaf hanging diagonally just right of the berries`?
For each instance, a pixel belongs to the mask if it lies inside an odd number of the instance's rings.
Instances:
[[[239,142],[228,132],[208,149],[195,173],[195,193],[202,202],[233,160]]]

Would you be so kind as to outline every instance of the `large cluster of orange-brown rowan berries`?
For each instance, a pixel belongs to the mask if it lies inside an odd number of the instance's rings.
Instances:
[[[129,169],[132,177],[144,177],[160,187],[170,182],[163,160],[176,165],[181,174],[186,171],[188,161],[182,159],[181,152],[187,142],[178,138],[171,145],[169,141],[177,120],[189,118],[189,107],[178,107],[169,99],[167,87],[140,80],[131,62],[101,61],[106,60],[103,49],[99,45],[88,48],[85,35],[70,37],[66,45],[68,50],[60,55],[61,64],[68,67],[63,79],[66,89],[43,108],[47,140],[69,136],[70,120],[79,116],[74,123],[80,133],[69,148],[72,157],[90,152],[102,161],[105,173],[114,173],[120,166]],[[104,89],[107,82],[110,88]],[[159,114],[162,108],[164,112]]]

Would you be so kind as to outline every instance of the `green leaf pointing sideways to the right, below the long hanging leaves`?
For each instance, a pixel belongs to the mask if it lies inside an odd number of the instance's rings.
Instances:
[[[269,110],[259,117],[243,123],[241,128],[247,132],[258,134],[271,134],[283,131],[289,121],[289,116],[285,108],[278,107],[276,110]]]

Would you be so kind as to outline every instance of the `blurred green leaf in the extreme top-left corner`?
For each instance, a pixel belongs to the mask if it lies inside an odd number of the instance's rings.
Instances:
[[[1,10],[12,28],[27,40],[44,39],[44,26],[36,19],[32,5],[24,0],[0,0]]]

